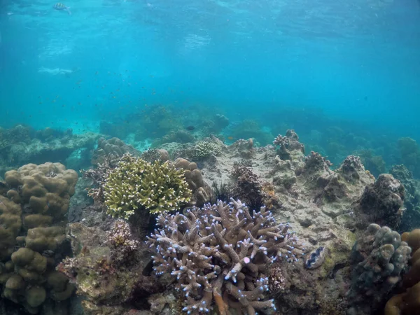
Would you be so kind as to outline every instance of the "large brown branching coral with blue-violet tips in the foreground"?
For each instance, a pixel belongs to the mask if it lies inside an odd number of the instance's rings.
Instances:
[[[239,200],[160,215],[158,225],[147,241],[155,251],[153,269],[176,276],[188,314],[209,313],[215,305],[219,314],[230,314],[231,308],[249,315],[274,309],[263,294],[267,263],[302,254],[288,224],[277,224],[265,207],[251,214]]]

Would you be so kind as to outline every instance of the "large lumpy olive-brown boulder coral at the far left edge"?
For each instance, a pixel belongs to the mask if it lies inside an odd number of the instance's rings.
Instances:
[[[29,164],[6,172],[0,196],[2,295],[38,314],[44,304],[66,308],[74,291],[55,271],[67,251],[64,226],[78,174],[59,163]]]

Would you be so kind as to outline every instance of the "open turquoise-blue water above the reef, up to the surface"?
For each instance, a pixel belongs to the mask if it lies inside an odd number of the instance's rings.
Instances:
[[[54,4],[1,1],[2,127],[97,132],[161,104],[309,142],[323,124],[420,139],[419,1]]]

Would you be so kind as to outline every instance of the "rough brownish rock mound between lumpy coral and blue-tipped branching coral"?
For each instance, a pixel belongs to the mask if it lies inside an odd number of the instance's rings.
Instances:
[[[71,223],[67,230],[74,256],[57,269],[76,283],[83,314],[131,314],[168,285],[144,275],[151,257],[124,221],[117,220],[108,232],[83,223]]]

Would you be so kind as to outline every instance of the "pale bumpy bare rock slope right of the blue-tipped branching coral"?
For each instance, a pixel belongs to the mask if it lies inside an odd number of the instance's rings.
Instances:
[[[304,260],[323,246],[323,262],[314,269],[307,269],[304,263],[288,264],[280,270],[269,266],[269,286],[279,288],[272,291],[279,314],[346,314],[346,291],[351,284],[349,257],[356,241],[353,232],[358,232],[353,207],[374,178],[360,159],[352,156],[336,171],[314,163],[313,171],[304,172],[307,159],[303,146],[293,132],[288,134],[291,146],[286,148],[288,154],[282,155],[285,160],[273,146],[250,148],[241,140],[223,146],[221,155],[203,163],[202,171],[209,185],[230,183],[235,162],[251,157],[252,172],[272,200],[273,216],[290,222],[304,242],[308,253]]]

